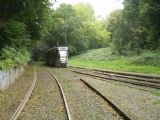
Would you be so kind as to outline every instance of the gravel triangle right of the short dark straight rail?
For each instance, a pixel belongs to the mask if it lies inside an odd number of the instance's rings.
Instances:
[[[77,75],[81,76],[82,75]],[[160,96],[151,92],[135,89],[117,82],[101,81],[83,76],[85,81],[94,86],[104,96],[122,109],[132,120],[159,120]],[[155,91],[160,92],[160,91]]]

